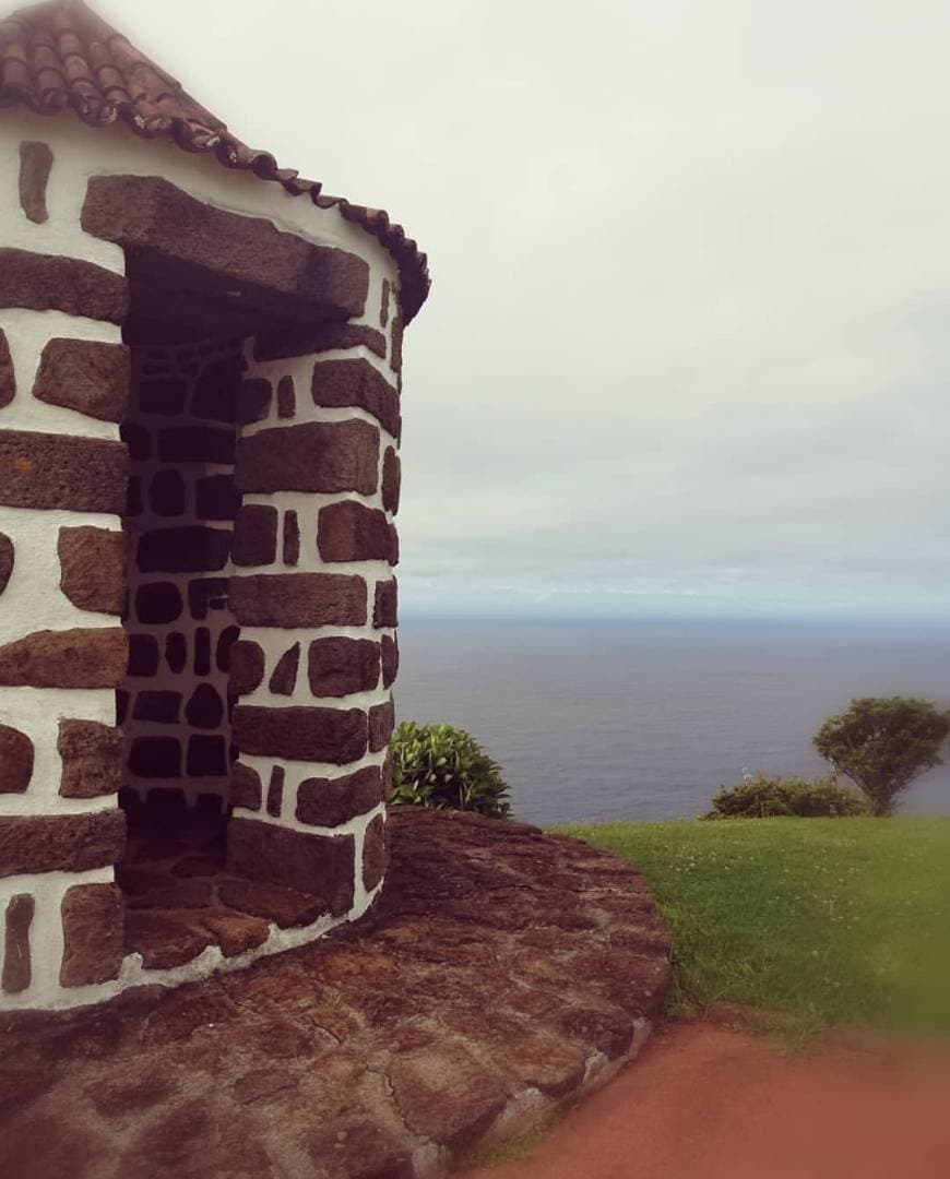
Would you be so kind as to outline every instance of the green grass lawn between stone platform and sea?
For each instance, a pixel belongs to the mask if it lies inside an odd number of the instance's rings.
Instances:
[[[741,1003],[950,1034],[950,818],[561,828],[639,864],[673,935],[673,1009]]]

